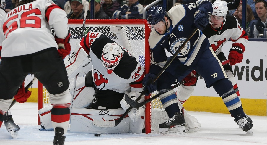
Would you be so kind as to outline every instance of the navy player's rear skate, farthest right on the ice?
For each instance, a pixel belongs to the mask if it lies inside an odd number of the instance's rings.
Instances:
[[[235,120],[235,119],[234,119]],[[235,120],[235,123],[243,130],[246,131],[246,134],[251,134],[253,135],[253,132],[251,130],[253,124],[252,124],[252,120],[250,119],[250,117],[248,117],[248,115],[246,115],[245,117],[239,119],[239,120]]]

